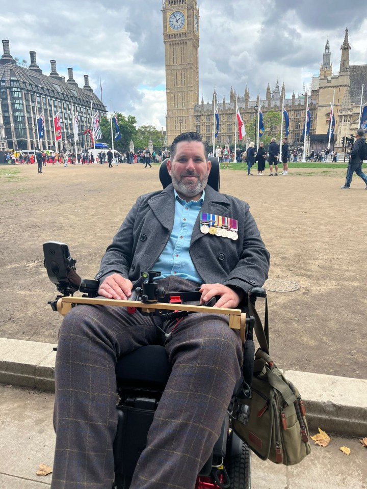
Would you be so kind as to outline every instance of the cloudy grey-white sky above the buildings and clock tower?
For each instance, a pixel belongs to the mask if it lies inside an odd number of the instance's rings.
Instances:
[[[221,100],[230,88],[265,97],[284,82],[286,95],[302,91],[318,73],[327,38],[335,72],[345,28],[351,64],[367,63],[365,0],[198,0],[199,99]],[[37,63],[45,74],[56,60],[60,75],[84,74],[109,110],[134,115],[138,125],[165,127],[166,93],[162,0],[0,0],[2,39],[13,57]]]

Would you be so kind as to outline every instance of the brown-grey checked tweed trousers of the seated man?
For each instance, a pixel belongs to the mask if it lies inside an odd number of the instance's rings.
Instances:
[[[176,277],[161,284],[172,292],[196,287]],[[240,378],[241,340],[224,315],[191,314],[165,338],[151,318],[116,306],[76,306],[61,325],[52,489],[111,489],[116,361],[148,344],[165,346],[172,373],[130,489],[194,489]]]

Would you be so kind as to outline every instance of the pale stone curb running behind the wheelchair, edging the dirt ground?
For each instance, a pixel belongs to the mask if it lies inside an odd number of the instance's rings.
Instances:
[[[56,345],[0,338],[0,383],[55,391]],[[287,370],[299,389],[312,432],[365,437],[367,380]]]

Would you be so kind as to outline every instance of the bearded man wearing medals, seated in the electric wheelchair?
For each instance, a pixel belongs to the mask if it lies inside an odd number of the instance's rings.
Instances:
[[[243,306],[247,292],[264,284],[269,253],[249,205],[207,185],[207,153],[196,132],[175,138],[167,162],[172,183],[139,197],[127,214],[95,277],[100,296],[131,298],[141,272],[153,268],[167,291],[198,288],[201,303],[216,297],[222,308]],[[239,335],[225,315],[163,321],[100,305],[73,308],[60,328],[53,489],[111,489],[115,365],[151,344],[165,347],[172,371],[130,488],[194,489],[241,376]]]

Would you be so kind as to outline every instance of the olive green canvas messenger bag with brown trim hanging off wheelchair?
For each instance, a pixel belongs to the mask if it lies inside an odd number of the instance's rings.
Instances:
[[[254,329],[260,347],[254,358],[251,332],[246,343],[252,341],[252,382],[244,382],[232,399],[231,425],[234,432],[263,460],[295,465],[311,452],[303,401],[298,389],[284,377],[269,355],[267,300],[265,329],[250,300],[248,307],[250,316],[255,319]],[[249,359],[246,364],[244,358],[245,379],[245,370],[249,364]],[[247,423],[244,424],[241,415],[238,414],[247,411],[246,405],[250,414]]]

